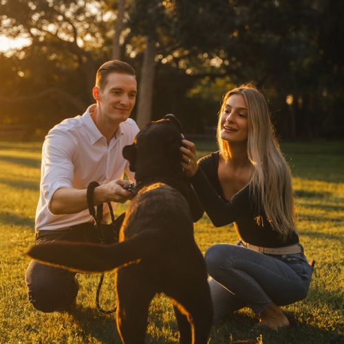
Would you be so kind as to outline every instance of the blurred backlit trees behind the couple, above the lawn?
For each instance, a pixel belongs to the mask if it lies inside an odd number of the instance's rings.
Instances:
[[[215,138],[222,96],[252,82],[283,140],[344,133],[340,0],[0,0],[0,140],[32,140],[94,103],[98,67],[136,69],[132,117],[173,113]]]

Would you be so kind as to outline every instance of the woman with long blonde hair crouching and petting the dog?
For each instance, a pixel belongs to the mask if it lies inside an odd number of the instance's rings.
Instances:
[[[214,321],[250,307],[257,325],[288,326],[279,308],[304,299],[312,267],[294,226],[290,169],[264,96],[252,85],[228,92],[219,111],[219,151],[196,162],[183,140],[182,166],[215,226],[234,222],[237,245],[206,251]]]

